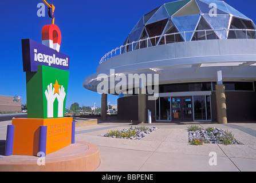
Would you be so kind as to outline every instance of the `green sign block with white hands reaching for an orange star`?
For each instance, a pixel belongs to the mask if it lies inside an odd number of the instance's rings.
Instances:
[[[27,118],[62,118],[65,114],[69,71],[39,65],[26,72]]]

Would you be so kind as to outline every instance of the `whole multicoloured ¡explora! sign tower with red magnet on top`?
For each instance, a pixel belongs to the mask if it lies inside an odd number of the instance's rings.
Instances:
[[[8,126],[6,156],[49,154],[74,143],[73,118],[65,118],[70,57],[60,53],[61,31],[42,28],[42,44],[22,39],[23,71],[26,72],[27,118],[15,118]]]

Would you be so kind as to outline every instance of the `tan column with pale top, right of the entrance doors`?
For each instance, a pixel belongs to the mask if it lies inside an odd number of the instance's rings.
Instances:
[[[217,108],[218,123],[227,124],[227,106],[226,106],[225,86],[222,83],[221,71],[218,71],[218,74],[217,74],[217,85],[215,86],[215,92],[216,92],[216,108]]]

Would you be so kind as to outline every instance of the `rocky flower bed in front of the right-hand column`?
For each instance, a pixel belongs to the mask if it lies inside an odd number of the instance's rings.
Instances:
[[[225,132],[219,128],[200,128],[198,125],[188,126],[188,142],[192,145],[205,144],[242,144],[232,132]]]

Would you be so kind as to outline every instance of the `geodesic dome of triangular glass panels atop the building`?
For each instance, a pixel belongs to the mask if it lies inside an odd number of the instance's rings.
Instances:
[[[250,18],[223,1],[180,0],[166,3],[143,15],[125,40],[124,46],[129,45],[122,52],[172,42],[255,39],[255,31],[250,31],[252,29],[256,26]]]

